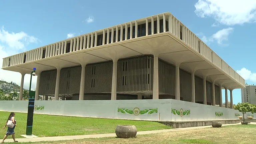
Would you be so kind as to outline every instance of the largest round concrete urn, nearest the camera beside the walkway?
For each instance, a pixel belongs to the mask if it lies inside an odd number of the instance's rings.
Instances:
[[[116,136],[118,138],[132,138],[137,134],[137,128],[134,125],[118,125],[116,127]]]

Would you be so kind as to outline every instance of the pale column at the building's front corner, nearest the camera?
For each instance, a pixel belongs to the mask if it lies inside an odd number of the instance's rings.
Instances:
[[[153,99],[159,99],[158,55],[154,55]]]

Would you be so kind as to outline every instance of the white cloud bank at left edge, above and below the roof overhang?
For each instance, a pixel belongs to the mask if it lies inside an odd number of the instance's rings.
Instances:
[[[25,51],[25,46],[30,43],[36,43],[39,40],[33,36],[29,36],[25,32],[8,32],[2,27],[0,30],[0,66],[2,68],[3,58],[10,55],[19,53],[19,51]],[[0,69],[0,80],[7,82],[15,82],[20,85],[21,74],[18,72],[7,71]],[[25,75],[24,88],[29,89],[30,75]],[[36,87],[36,77],[32,78],[32,89]]]

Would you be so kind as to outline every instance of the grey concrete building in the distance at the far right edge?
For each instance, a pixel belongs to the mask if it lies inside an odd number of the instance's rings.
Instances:
[[[246,84],[246,87],[241,89],[241,98],[242,103],[248,102],[256,105],[256,86]]]

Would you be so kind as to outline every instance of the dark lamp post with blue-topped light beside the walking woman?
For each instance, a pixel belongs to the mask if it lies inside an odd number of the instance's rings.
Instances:
[[[31,76],[30,76],[26,135],[32,135],[32,127],[33,127],[35,93],[31,91],[32,76],[36,76],[36,68],[33,68],[33,71],[31,72]]]

